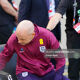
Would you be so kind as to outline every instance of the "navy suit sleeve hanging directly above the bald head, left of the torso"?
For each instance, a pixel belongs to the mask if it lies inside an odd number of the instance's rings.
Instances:
[[[31,9],[31,0],[21,0],[19,5],[18,23],[29,17]]]

